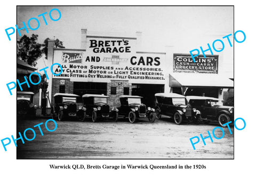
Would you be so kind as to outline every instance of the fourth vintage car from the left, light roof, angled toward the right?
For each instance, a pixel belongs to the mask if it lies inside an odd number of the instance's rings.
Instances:
[[[133,123],[137,118],[148,118],[150,122],[156,119],[155,109],[146,108],[145,104],[141,103],[141,96],[136,95],[122,95],[119,96],[121,106],[118,107],[119,116],[128,117],[129,121]]]

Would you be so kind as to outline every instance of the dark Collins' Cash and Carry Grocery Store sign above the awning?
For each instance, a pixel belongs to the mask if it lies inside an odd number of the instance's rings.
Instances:
[[[218,73],[219,55],[198,55],[193,61],[190,54],[173,54],[173,72]]]

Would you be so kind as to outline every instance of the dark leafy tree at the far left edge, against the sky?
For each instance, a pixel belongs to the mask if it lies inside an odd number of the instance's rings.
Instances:
[[[30,38],[23,35],[17,42],[17,57],[29,65],[35,67],[36,60],[42,56],[42,44],[37,43],[38,35],[32,35]]]

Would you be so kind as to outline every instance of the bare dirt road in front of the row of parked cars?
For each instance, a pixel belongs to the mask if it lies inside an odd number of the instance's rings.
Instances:
[[[23,135],[26,128],[33,128],[46,119],[18,121],[18,131]],[[44,136],[38,128],[36,138],[25,144],[17,142],[17,159],[233,159],[234,158],[234,128],[230,135],[228,128],[223,128],[225,136],[202,140],[193,149],[189,138],[203,134],[207,130],[212,134],[218,124],[175,125],[170,119],[156,120],[150,123],[140,120],[131,124],[127,120],[118,122],[79,122],[57,121],[58,128],[53,132],[41,126]],[[51,128],[52,127],[52,128]],[[49,124],[53,129],[54,125]],[[27,131],[27,137],[33,133]],[[215,135],[221,137],[220,129]]]

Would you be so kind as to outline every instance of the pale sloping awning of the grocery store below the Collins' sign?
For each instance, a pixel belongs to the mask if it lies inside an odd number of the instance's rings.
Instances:
[[[228,77],[210,73],[172,73],[169,74],[170,87],[234,87]]]

